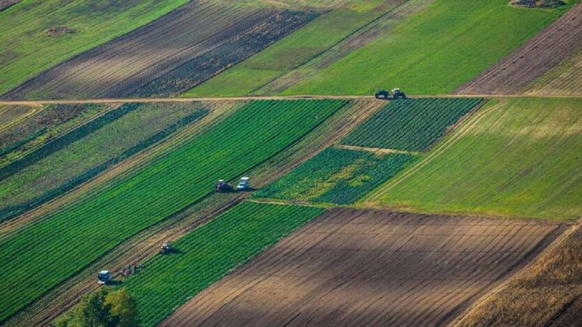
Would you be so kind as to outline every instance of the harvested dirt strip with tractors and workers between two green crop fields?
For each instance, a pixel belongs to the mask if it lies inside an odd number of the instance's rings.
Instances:
[[[329,121],[313,130],[306,138],[248,172],[253,176],[253,185],[260,187],[274,181],[274,179],[290,172],[294,167],[308,160],[308,158],[311,158],[322,149],[334,144],[334,142],[338,142],[357,124],[380,109],[378,103],[357,100],[349,109],[343,109],[342,112],[332,116]],[[145,163],[142,165],[145,165]],[[134,167],[132,170],[135,169],[137,168]],[[82,194],[82,192],[80,193]],[[111,270],[117,273],[118,267],[121,268],[127,264],[142,262],[147,257],[157,253],[161,242],[167,239],[175,240],[184,236],[200,224],[214,218],[219,213],[227,210],[227,208],[239,203],[239,201],[246,199],[249,195],[248,193],[227,195],[226,197],[211,195],[193,204],[185,211],[140,231],[137,235],[128,238],[117,248],[105,254],[104,257],[85,267],[70,280],[47,292],[47,294],[24,310],[5,321],[4,324],[6,326],[49,324],[59,314],[62,314],[77,303],[82,294],[97,288],[94,281],[95,271],[103,267],[116,267]],[[22,224],[22,221],[20,223]],[[0,225],[0,227],[5,226]],[[10,227],[10,230],[15,229],[15,226]],[[4,232],[6,233],[6,227]],[[0,239],[3,237],[6,237],[6,235],[3,235],[2,229],[0,229]],[[147,269],[147,267],[145,268]]]

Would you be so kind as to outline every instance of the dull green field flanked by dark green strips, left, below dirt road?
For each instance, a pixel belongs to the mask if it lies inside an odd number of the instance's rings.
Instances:
[[[20,165],[6,174],[0,169],[0,221],[62,195],[207,112],[196,102],[124,104],[85,124],[83,131],[72,130],[45,146],[54,149],[41,148],[40,155],[15,162]]]

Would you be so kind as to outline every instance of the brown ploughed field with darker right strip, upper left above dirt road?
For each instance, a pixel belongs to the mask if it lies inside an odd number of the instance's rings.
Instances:
[[[319,13],[192,1],[90,50],[4,98],[169,96],[262,50]]]

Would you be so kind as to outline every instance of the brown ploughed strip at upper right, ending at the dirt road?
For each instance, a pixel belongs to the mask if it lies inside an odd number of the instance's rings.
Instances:
[[[512,54],[460,86],[456,93],[512,94],[523,91],[581,47],[582,3],[578,3]]]

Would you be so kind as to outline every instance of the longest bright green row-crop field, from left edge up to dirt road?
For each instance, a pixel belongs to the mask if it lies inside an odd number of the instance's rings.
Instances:
[[[138,231],[304,137],[341,100],[253,101],[133,176],[0,242],[0,321]]]

